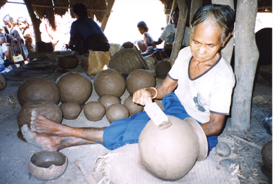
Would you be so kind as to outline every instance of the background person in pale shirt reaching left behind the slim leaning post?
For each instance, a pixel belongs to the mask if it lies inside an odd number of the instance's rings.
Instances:
[[[162,32],[161,36],[159,37],[158,41],[153,41],[150,46],[159,45],[164,42],[164,48],[152,48],[149,47],[146,52],[142,52],[141,55],[143,57],[152,56],[155,57],[158,61],[166,59],[170,57],[172,53],[172,45],[175,42],[175,32],[177,31],[177,23],[179,19],[179,8],[175,8],[172,12],[172,23],[166,25],[164,31]],[[181,49],[189,45],[189,28],[186,26],[184,32],[184,38],[182,40]]]

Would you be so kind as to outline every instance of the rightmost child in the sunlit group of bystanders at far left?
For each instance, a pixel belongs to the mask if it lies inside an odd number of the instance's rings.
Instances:
[[[32,30],[30,29],[30,23],[28,22],[28,20],[24,17],[19,17],[17,19],[17,25],[22,31],[23,37],[26,42],[26,47],[28,48],[28,52],[35,52],[33,44],[34,37],[32,34]]]

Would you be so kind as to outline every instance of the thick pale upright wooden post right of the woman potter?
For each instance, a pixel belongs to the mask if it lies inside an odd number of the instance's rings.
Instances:
[[[235,28],[235,75],[230,127],[247,130],[250,127],[253,82],[259,51],[255,41],[257,0],[238,0]]]

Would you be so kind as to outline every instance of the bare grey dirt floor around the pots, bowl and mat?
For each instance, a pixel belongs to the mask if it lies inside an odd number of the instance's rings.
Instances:
[[[27,66],[12,70],[8,74],[3,74],[7,79],[7,87],[0,92],[0,183],[86,183],[86,179],[77,167],[76,160],[79,160],[90,174],[97,163],[95,161],[99,156],[110,152],[101,145],[82,145],[68,147],[61,150],[68,157],[68,167],[66,172],[53,181],[42,181],[35,178],[28,170],[28,160],[34,152],[38,152],[39,147],[21,141],[17,137],[19,127],[17,125],[17,114],[21,109],[17,101],[17,89],[26,80],[31,77],[45,77],[56,81],[57,78],[68,71],[84,72],[79,65],[75,70],[62,70],[56,65],[51,65],[47,70],[34,70]],[[90,76],[93,81],[93,76]],[[161,83],[157,79],[157,85]],[[122,101],[128,97],[125,92],[121,97]],[[95,90],[92,92],[92,99],[97,100],[98,96]],[[89,101],[89,100],[88,100]],[[225,166],[228,170],[230,163],[239,165],[237,176],[240,183],[268,183],[268,177],[262,173],[262,155],[259,147],[272,140],[272,136],[266,132],[262,125],[262,119],[266,114],[272,111],[272,88],[270,83],[258,77],[253,94],[253,105],[251,110],[250,129],[246,131],[235,131],[226,128],[219,136],[219,143],[227,143],[230,146],[229,156],[219,156],[216,149],[213,149],[209,156],[217,163]],[[83,112],[81,112],[83,116]],[[82,119],[79,119],[81,121]],[[228,122],[230,119],[228,119]],[[68,125],[75,125],[72,121],[63,121]],[[106,117],[99,123],[92,124],[86,122],[83,125],[102,126],[108,125]],[[78,125],[75,125],[78,126]],[[252,146],[241,139],[255,143],[258,146]],[[223,161],[224,160],[224,161]],[[213,170],[213,174],[221,174],[224,170]],[[100,181],[101,178],[97,178]]]

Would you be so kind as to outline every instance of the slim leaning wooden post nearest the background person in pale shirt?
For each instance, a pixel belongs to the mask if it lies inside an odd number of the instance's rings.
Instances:
[[[170,65],[175,63],[179,50],[181,49],[186,20],[188,17],[188,7],[185,0],[177,0],[179,8],[179,19],[177,23],[177,32],[175,32],[175,42],[172,45],[172,54],[170,55]]]

